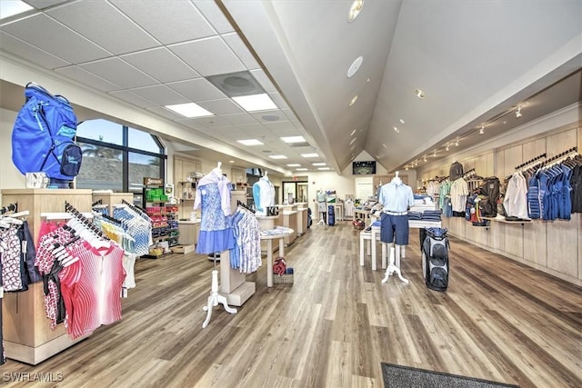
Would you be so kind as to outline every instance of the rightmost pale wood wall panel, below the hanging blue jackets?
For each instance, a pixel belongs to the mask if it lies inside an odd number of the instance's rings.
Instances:
[[[575,222],[547,223],[547,268],[568,276],[578,276],[578,253],[573,245],[578,240]]]

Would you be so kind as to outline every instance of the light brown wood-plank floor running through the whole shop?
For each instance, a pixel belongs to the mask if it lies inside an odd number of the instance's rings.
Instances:
[[[357,387],[380,363],[522,387],[582,386],[582,289],[451,238],[447,293],[426,289],[411,230],[400,283],[361,267],[349,223],[313,225],[286,248],[294,284],[266,287],[202,323],[212,264],[175,254],[135,265],[123,320],[32,366],[8,360],[3,386]],[[378,267],[379,267],[378,261]],[[10,373],[62,373],[60,383]],[[30,377],[29,377],[30,379]]]

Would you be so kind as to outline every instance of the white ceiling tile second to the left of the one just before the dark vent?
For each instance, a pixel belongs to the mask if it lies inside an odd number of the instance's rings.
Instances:
[[[119,58],[107,58],[81,65],[81,67],[127,89],[157,84],[154,78],[145,75]]]

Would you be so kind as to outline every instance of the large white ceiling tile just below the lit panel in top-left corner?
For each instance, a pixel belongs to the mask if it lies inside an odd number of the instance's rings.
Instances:
[[[71,64],[110,55],[85,37],[42,14],[27,17],[18,23],[3,25],[0,29]]]

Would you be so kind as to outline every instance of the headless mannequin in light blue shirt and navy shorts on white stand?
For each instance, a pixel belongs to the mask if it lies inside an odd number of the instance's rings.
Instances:
[[[390,274],[396,273],[404,282],[408,281],[400,273],[401,247],[408,244],[408,216],[407,211],[415,204],[412,188],[402,182],[396,175],[388,184],[384,184],[378,191],[378,202],[382,204],[380,241],[388,244],[390,264],[386,268],[386,276],[382,283],[386,283]]]

